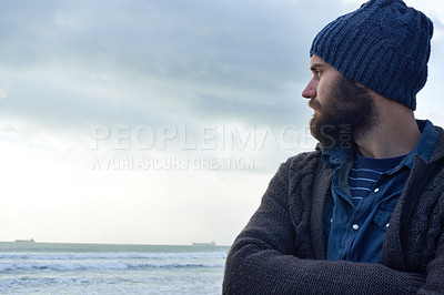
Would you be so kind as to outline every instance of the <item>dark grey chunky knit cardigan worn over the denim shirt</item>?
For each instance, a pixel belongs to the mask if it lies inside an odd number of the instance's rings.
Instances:
[[[444,131],[415,156],[380,263],[325,260],[323,210],[333,170],[321,150],[283,163],[234,241],[223,294],[444,294]]]

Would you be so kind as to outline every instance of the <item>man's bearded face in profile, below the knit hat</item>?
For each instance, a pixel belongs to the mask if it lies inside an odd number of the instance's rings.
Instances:
[[[310,69],[313,78],[302,96],[310,99],[314,110],[312,135],[325,148],[351,149],[354,139],[376,123],[371,95],[317,55],[312,57]]]

